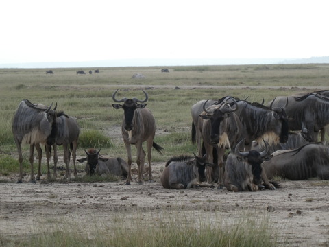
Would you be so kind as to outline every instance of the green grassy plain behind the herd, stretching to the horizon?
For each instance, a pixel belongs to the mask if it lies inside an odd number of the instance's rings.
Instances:
[[[77,117],[82,140],[78,155],[94,144],[103,154],[125,157],[118,134],[123,111],[112,108],[112,93],[121,89],[118,97],[143,98],[141,89],[145,89],[159,133],[155,141],[164,147],[162,156],[154,152],[154,161],[166,161],[174,154],[196,151],[191,145],[190,108],[200,99],[232,95],[252,102],[264,97],[266,103],[278,95],[328,88],[329,78],[329,64],[169,67],[169,73],[160,69],[101,68],[92,75],[89,69],[84,69],[86,75],[77,75],[77,68],[53,69],[53,75],[46,74],[47,69],[0,69],[0,153],[16,153],[11,121],[22,99],[46,105],[57,102],[59,110]],[[134,73],[146,78],[132,79]],[[88,139],[99,134],[108,141]]]

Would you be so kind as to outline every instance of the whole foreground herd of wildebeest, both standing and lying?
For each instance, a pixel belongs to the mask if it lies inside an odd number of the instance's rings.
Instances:
[[[119,89],[117,89],[118,91]],[[122,136],[127,150],[123,158],[107,158],[100,150],[84,150],[87,161],[86,174],[114,174],[124,176],[126,185],[132,181],[132,145],[137,150],[138,184],[143,184],[147,143],[149,163],[148,179],[153,180],[151,149],[162,152],[154,142],[155,119],[146,107],[145,99],[117,99],[112,95],[115,109],[123,109]],[[122,102],[122,104],[117,104]],[[56,178],[56,145],[64,147],[66,175],[70,178],[69,161],[73,158],[74,175],[77,141],[80,128],[73,117],[43,104],[32,104],[24,99],[16,110],[12,132],[19,152],[20,173],[23,179],[21,144],[30,145],[29,163],[31,182],[40,179],[42,146],[47,157],[47,178],[51,178],[49,159],[53,149]],[[329,126],[329,91],[315,91],[289,97],[276,97],[269,106],[248,102],[236,97],[205,99],[191,106],[191,140],[197,143],[198,154],[172,157],[165,164],[160,181],[164,188],[186,189],[197,186],[222,188],[229,191],[258,191],[276,189],[278,183],[270,182],[275,176],[291,180],[318,177],[329,179],[329,147],[324,144],[324,133]],[[289,131],[295,132],[289,132]],[[321,133],[321,142],[318,141]],[[34,176],[34,148],[38,152],[38,174]]]

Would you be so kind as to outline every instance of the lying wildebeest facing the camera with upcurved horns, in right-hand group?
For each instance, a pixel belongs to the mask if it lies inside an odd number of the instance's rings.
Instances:
[[[265,143],[265,150],[258,152],[250,150],[241,152],[242,139],[234,152],[230,152],[225,164],[225,186],[229,191],[258,191],[260,187],[267,189],[276,189],[273,184],[269,183],[262,163],[271,159],[267,156],[268,145]]]

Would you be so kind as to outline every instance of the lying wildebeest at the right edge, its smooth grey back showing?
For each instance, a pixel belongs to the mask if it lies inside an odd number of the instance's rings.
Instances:
[[[281,176],[290,180],[317,177],[329,179],[329,147],[321,143],[309,143],[297,150],[278,150],[271,161],[263,163],[269,179]]]

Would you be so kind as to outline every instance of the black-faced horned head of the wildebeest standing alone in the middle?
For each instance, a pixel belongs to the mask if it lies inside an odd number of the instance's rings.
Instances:
[[[119,89],[117,89],[118,91]],[[137,98],[132,98],[132,99],[127,99],[126,97],[123,99],[115,99],[115,95],[117,94],[117,91],[115,91],[112,95],[112,99],[114,102],[123,102],[122,104],[112,104],[113,108],[115,109],[120,109],[122,108],[124,110],[124,115],[125,115],[125,130],[130,131],[134,127],[134,111],[137,108],[145,108],[146,104],[143,104],[144,102],[147,102],[147,99],[149,98],[147,93],[142,89],[143,93],[145,94],[145,99],[140,100]],[[141,104],[138,104],[141,103]]]

